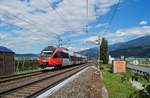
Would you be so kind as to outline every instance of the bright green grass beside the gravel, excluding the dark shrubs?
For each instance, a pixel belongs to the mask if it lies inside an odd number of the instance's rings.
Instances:
[[[103,82],[108,90],[109,98],[128,98],[135,88],[128,81],[122,82],[121,77],[124,77],[125,74],[111,73],[111,65],[103,66]]]

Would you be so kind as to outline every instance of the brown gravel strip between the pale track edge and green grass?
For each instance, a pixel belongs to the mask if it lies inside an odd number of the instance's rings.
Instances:
[[[49,98],[102,98],[102,86],[100,72],[90,66]]]

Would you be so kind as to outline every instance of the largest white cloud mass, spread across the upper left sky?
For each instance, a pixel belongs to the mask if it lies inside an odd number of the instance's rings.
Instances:
[[[57,0],[58,1],[58,0]],[[96,12],[104,15],[119,0],[89,0],[88,20],[95,20],[94,5],[100,7]],[[10,3],[11,2],[11,3]],[[0,20],[23,28],[15,32],[0,32],[0,44],[15,51],[33,51],[35,44],[48,44],[56,35],[73,31],[73,36],[83,34],[87,23],[86,0],[63,0],[56,9],[52,7],[56,0],[0,0]],[[81,33],[82,32],[82,33]],[[28,49],[25,49],[27,47]]]

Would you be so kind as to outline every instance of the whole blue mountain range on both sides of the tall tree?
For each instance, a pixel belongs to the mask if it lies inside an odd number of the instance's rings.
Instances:
[[[137,56],[137,57],[150,57],[150,35],[140,37],[128,42],[116,43],[109,45],[109,52],[113,57],[120,57],[122,55]],[[90,57],[97,56],[97,47],[80,51],[81,54]]]

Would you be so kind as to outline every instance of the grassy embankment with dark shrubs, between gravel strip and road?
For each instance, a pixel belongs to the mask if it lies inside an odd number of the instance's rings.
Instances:
[[[108,90],[109,98],[149,98],[150,94],[150,80],[145,78],[143,75],[135,74],[131,71],[126,73],[112,73],[112,65],[102,65],[103,82]],[[129,80],[134,79],[147,85],[145,88],[148,93],[144,90],[136,90],[132,87]]]

